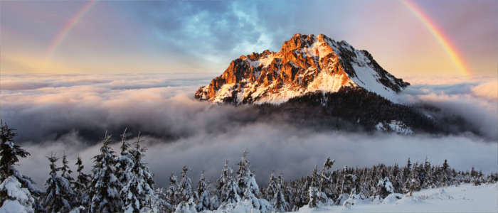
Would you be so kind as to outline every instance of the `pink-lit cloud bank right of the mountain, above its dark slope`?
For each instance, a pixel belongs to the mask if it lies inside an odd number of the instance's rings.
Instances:
[[[497,79],[486,79],[457,84],[415,84],[403,91],[402,96],[407,104],[430,104],[445,114],[462,116],[483,136],[496,141]]]

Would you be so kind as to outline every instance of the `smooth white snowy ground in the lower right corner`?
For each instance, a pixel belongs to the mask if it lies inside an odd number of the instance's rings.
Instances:
[[[304,206],[299,212],[498,212],[497,183],[462,184],[421,190],[414,192],[412,197],[401,196],[401,199],[388,196],[380,202],[359,201],[351,207],[309,209]]]

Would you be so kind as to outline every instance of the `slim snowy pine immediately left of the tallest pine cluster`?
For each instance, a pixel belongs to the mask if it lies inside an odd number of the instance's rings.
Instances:
[[[73,182],[73,191],[75,192],[75,206],[83,207],[88,211],[90,198],[88,197],[88,185],[90,183],[90,175],[83,173],[83,161],[80,156],[76,158],[76,172],[78,177]]]

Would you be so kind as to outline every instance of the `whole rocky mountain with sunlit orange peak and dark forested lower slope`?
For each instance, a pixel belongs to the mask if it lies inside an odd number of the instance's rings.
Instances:
[[[233,60],[195,97],[246,104],[256,109],[256,120],[315,129],[477,133],[461,116],[401,104],[397,93],[408,85],[366,50],[322,34],[295,34],[277,53],[265,50]]]

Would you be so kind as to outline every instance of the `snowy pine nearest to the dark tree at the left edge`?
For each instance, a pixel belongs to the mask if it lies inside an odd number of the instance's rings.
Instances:
[[[58,168],[55,163],[59,158],[52,154],[47,157],[50,162],[50,177],[46,181],[46,192],[45,200],[43,206],[46,212],[56,213],[56,212],[69,212],[72,207],[72,199],[74,196],[73,189],[71,189],[70,182],[68,179],[57,175],[57,172],[63,167]]]

